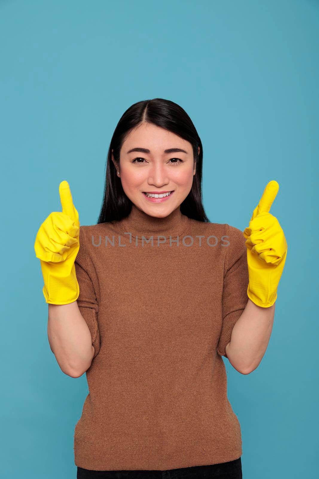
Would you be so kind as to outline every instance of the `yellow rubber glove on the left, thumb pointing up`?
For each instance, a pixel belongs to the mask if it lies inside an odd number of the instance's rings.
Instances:
[[[62,213],[53,212],[44,220],[34,250],[41,262],[45,301],[61,305],[76,301],[80,291],[74,265],[80,246],[80,223],[68,182],[60,183],[59,193]]]

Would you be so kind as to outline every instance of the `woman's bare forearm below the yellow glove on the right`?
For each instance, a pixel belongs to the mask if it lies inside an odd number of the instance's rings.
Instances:
[[[246,308],[236,321],[226,354],[231,365],[242,374],[258,367],[266,352],[275,317],[275,303],[270,308],[256,306],[248,299]]]

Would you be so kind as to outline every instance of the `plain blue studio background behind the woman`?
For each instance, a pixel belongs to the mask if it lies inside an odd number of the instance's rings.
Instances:
[[[317,478],[319,1],[1,1],[0,44],[1,477],[76,477],[87,381],[50,350],[34,239],[61,211],[62,180],[81,224],[96,223],[119,118],[161,97],[201,137],[211,222],[243,230],[279,183],[274,328],[253,373],[224,358],[228,396],[245,479]]]

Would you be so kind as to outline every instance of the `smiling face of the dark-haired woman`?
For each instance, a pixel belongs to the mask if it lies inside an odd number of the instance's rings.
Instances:
[[[112,161],[116,166],[113,150]],[[188,141],[159,126],[143,123],[122,145],[117,176],[124,193],[137,208],[150,216],[165,217],[187,197],[195,168],[193,148]],[[148,198],[145,192],[172,193],[163,198]]]

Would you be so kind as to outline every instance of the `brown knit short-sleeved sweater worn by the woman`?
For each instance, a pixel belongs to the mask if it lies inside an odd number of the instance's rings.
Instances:
[[[95,354],[76,466],[166,470],[239,458],[221,356],[248,301],[242,231],[179,207],[155,218],[132,205],[121,221],[81,226],[79,240],[77,304]]]

